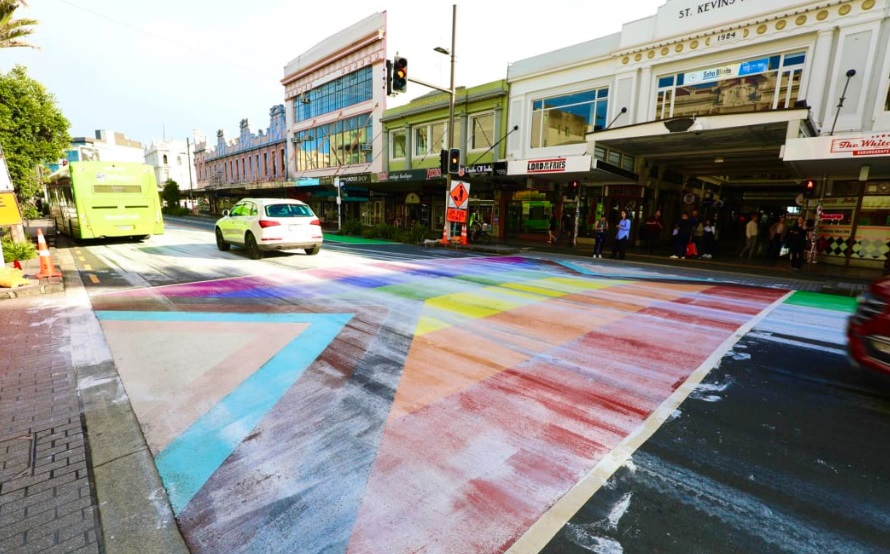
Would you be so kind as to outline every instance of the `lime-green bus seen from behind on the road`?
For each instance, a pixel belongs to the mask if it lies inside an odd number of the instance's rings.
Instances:
[[[46,199],[61,232],[79,239],[164,232],[154,169],[132,162],[71,162],[49,176]]]

